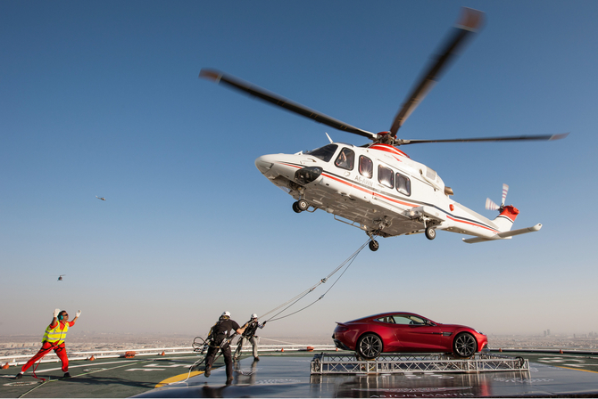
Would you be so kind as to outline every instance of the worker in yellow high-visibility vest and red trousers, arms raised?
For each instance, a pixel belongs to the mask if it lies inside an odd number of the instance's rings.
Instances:
[[[81,315],[81,311],[75,314],[75,318],[72,319],[72,322],[69,322],[69,314],[66,313],[65,310],[61,312],[60,309],[54,310],[54,318],[49,326],[46,328],[46,334],[44,334],[44,338],[42,338],[42,347],[39,349],[39,352],[35,354],[29,362],[25,363],[21,368],[21,372],[17,374],[14,379],[22,379],[23,374],[25,371],[29,369],[35,362],[37,362],[42,357],[46,356],[51,350],[54,350],[54,353],[60,358],[62,362],[62,371],[64,372],[63,379],[70,379],[71,374],[69,374],[69,358],[66,355],[66,347],[64,346],[64,340],[66,339],[66,333],[70,327],[75,325],[77,319]]]

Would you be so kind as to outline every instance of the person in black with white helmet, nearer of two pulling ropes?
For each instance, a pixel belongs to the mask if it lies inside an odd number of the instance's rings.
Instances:
[[[241,328],[237,322],[230,320],[230,313],[228,312],[224,312],[220,316],[219,321],[216,322],[216,324],[212,327],[212,340],[210,341],[208,354],[205,356],[205,377],[210,377],[212,363],[214,362],[214,358],[220,349],[222,351],[222,356],[224,356],[224,364],[227,368],[227,384],[233,382],[233,359],[230,353],[230,343],[228,342],[228,337],[232,335],[231,333],[233,331],[237,332],[237,334],[243,334],[246,328],[246,323],[245,326]]]

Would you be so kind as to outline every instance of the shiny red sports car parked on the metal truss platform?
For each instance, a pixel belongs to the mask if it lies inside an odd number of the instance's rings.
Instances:
[[[332,334],[336,347],[356,351],[365,359],[375,359],[382,352],[443,352],[467,358],[488,345],[486,335],[477,330],[406,312],[336,324]]]

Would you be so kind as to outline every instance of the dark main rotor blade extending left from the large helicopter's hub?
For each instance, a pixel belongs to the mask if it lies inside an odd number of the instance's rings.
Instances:
[[[225,75],[224,73],[218,70],[203,68],[199,72],[199,77],[212,80],[217,84],[224,83],[241,92],[254,95],[255,97],[258,97],[266,102],[278,105],[278,107],[282,107],[285,110],[290,110],[291,112],[295,112],[295,114],[299,114],[305,118],[313,119],[316,122],[323,123],[324,125],[328,125],[330,127],[334,127],[335,129],[353,134],[359,134],[363,137],[368,137],[371,140],[375,140],[378,138],[378,134],[373,134],[371,132],[368,132],[367,130],[362,130],[359,127],[351,126],[335,118],[330,118],[327,115],[324,115],[316,110],[310,110],[309,108],[304,107],[301,104],[297,104],[296,102],[291,102],[286,98],[280,97],[278,96],[278,94],[270,93],[267,90],[262,89],[262,87],[252,85],[248,82],[238,79],[237,77]]]

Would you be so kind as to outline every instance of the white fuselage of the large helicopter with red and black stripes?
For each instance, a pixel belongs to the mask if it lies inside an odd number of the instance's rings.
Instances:
[[[450,199],[453,191],[436,171],[392,145],[332,142],[305,153],[264,155],[255,165],[270,182],[309,205],[294,205],[295,211],[323,209],[372,235],[415,234],[432,227],[476,236],[465,241],[479,242],[523,233],[507,233],[517,209],[507,207],[494,221],[478,215]]]

